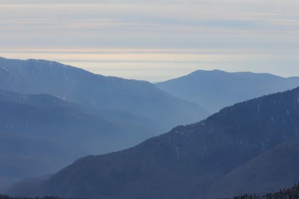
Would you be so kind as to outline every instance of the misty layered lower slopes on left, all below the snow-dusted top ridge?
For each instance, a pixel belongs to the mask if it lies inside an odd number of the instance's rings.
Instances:
[[[148,118],[89,109],[45,94],[0,90],[0,110],[0,187],[57,172],[79,157],[129,148],[162,132]]]

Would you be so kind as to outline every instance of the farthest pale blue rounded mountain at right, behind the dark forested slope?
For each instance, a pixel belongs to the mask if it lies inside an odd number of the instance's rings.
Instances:
[[[237,102],[283,92],[299,86],[299,77],[282,78],[266,73],[195,71],[189,75],[156,83],[170,95],[199,105],[214,113]]]

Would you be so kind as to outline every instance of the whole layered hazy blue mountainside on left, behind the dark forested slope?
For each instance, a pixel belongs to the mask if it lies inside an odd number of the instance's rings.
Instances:
[[[36,156],[40,145],[33,144],[26,155],[0,152],[0,187],[57,172],[79,157],[129,148],[208,115],[196,103],[145,81],[104,77],[45,60],[5,58],[0,58],[0,110],[0,133],[11,136],[5,146],[22,140],[61,149],[47,147]],[[34,165],[38,169],[32,170]]]

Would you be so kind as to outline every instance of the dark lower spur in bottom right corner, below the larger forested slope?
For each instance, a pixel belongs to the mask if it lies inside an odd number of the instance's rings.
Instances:
[[[217,180],[208,189],[208,196],[262,195],[290,187],[299,180],[298,168],[299,140],[286,141]]]

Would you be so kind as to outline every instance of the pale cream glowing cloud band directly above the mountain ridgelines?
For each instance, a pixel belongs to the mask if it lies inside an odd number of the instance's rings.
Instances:
[[[1,50],[7,58],[47,59],[96,74],[164,81],[195,70],[252,71],[299,76],[298,51],[272,49],[49,49]]]

